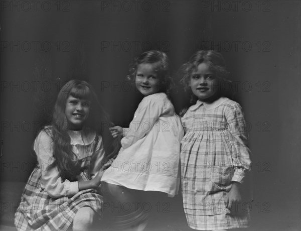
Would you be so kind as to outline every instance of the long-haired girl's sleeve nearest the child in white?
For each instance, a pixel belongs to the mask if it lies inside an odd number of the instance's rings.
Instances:
[[[102,137],[98,137],[97,146],[95,148],[95,152],[92,154],[91,162],[90,162],[90,174],[91,178],[93,179],[97,173],[100,171],[101,167],[103,166],[104,161],[104,148]]]

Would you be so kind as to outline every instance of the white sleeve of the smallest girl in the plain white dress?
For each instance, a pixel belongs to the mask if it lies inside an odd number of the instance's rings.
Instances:
[[[129,128],[122,138],[122,149],[126,149],[143,138],[154,127],[159,117],[167,111],[165,100],[156,95],[148,95],[142,99]]]

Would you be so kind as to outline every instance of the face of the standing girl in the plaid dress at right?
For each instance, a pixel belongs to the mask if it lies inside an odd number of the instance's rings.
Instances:
[[[207,101],[218,93],[219,79],[214,76],[207,63],[200,63],[192,72],[189,86],[200,101]]]

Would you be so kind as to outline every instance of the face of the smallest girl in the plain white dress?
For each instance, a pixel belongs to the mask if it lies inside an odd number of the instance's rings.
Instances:
[[[151,63],[141,63],[137,66],[135,84],[144,96],[159,92],[159,76]]]

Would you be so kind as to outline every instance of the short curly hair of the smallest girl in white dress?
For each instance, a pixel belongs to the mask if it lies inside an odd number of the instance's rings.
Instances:
[[[160,79],[159,92],[169,94],[174,82],[170,76],[168,56],[164,52],[157,50],[143,52],[130,64],[129,74],[127,75],[128,80],[135,81],[137,67],[141,63],[150,63],[154,66],[154,71]]]

